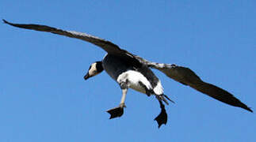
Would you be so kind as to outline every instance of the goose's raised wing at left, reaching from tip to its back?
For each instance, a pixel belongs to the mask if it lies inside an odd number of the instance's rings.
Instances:
[[[101,39],[97,36],[92,36],[82,32],[75,31],[65,31],[58,28],[49,27],[47,25],[41,24],[13,24],[9,21],[2,20],[6,24],[10,24],[17,28],[26,28],[30,30],[40,31],[40,32],[51,32],[61,36],[68,36],[75,39],[82,39],[86,42],[93,43],[97,47],[101,47],[103,50],[108,52],[108,54],[115,54],[123,58],[125,61],[131,62],[136,67],[140,67],[142,64],[137,60],[133,54],[129,53],[127,50],[120,49],[116,44],[109,42],[108,40]]]

